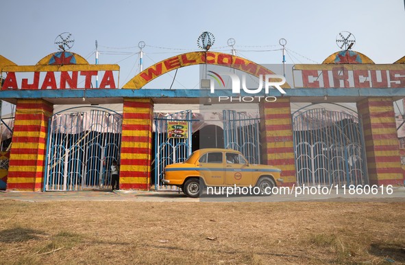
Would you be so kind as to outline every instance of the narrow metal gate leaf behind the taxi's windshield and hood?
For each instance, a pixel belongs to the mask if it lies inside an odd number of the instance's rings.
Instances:
[[[223,141],[225,148],[238,150],[249,163],[260,163],[260,119],[246,113],[223,111]]]

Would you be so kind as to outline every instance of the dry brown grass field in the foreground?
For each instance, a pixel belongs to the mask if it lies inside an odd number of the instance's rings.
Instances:
[[[404,203],[0,200],[1,264],[405,263]]]

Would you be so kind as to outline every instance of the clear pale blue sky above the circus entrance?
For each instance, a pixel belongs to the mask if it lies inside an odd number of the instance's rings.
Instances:
[[[198,51],[197,38],[212,32],[212,51],[236,54],[260,64],[282,62],[280,38],[287,41],[286,61],[321,63],[339,51],[336,35],[354,34],[353,49],[376,63],[393,63],[405,56],[403,0],[283,0],[283,1],[103,1],[7,0],[0,5],[0,54],[17,65],[35,65],[58,51],[58,34],[70,32],[71,51],[95,63],[118,64],[120,87],[139,72],[138,43],[144,41],[144,69],[155,62]],[[186,67],[188,68],[188,67]],[[193,88],[193,69],[179,71],[174,87]],[[168,88],[173,73],[151,82]]]

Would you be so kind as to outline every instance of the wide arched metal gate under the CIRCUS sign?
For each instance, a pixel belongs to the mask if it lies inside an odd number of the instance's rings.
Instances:
[[[360,119],[325,108],[293,113],[298,185],[365,185]]]

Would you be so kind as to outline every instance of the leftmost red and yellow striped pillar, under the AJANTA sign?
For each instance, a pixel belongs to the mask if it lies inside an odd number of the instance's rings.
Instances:
[[[7,189],[41,190],[52,111],[53,105],[45,100],[17,100]]]

